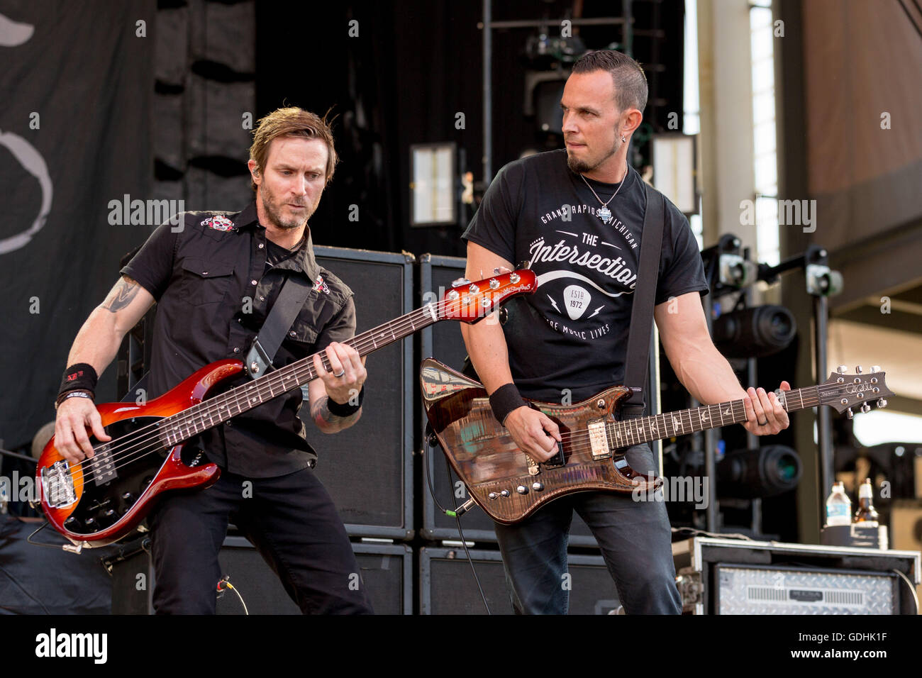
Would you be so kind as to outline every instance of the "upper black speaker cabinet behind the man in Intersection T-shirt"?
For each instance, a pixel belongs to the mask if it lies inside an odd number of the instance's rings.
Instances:
[[[444,291],[451,290],[452,281],[464,277],[467,259],[458,256],[420,256],[420,305],[437,301],[442,298]],[[489,273],[485,272],[485,275]],[[432,296],[434,294],[434,296]],[[460,371],[467,357],[464,339],[461,338],[461,329],[458,323],[443,322],[426,327],[420,332],[420,361],[417,362],[416,372],[413,375],[414,388],[419,389],[419,363],[423,358],[435,358],[449,367]],[[426,412],[420,403],[420,426],[426,423]],[[420,442],[420,446],[425,445]],[[427,465],[430,471],[435,495],[439,503],[445,507],[455,508],[467,501],[467,488],[460,482],[454,473],[451,483],[448,479],[448,463],[441,447],[427,448]],[[447,517],[439,512],[432,501],[426,479],[422,479],[422,536],[425,539],[437,541],[443,539],[458,539],[458,530],[455,518]],[[461,517],[461,528],[464,529],[466,540],[496,541],[493,531],[493,521],[479,506],[475,506]],[[592,536],[589,527],[583,518],[573,513],[573,525],[570,529],[570,544],[572,546],[597,546],[596,539]],[[479,600],[479,597],[478,597]]]

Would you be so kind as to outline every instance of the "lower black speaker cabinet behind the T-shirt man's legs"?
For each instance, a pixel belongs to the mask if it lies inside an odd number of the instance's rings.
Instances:
[[[512,614],[502,559],[498,551],[471,550],[490,611]],[[571,614],[614,613],[621,603],[609,569],[600,555],[568,554],[561,586],[570,587]],[[464,549],[420,549],[420,614],[486,614]]]

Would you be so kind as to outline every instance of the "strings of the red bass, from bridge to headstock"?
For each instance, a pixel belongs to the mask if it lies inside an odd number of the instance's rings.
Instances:
[[[408,313],[407,315],[401,318],[397,318],[391,323],[384,323],[383,325],[380,325],[378,327],[373,327],[370,330],[362,332],[361,335],[359,335],[358,337],[354,337],[344,343],[347,343],[353,346],[360,352],[366,349],[372,349],[373,351],[374,349],[377,348],[377,339],[383,339],[386,336],[384,335],[384,331],[383,331],[384,327],[388,328],[389,334],[390,334],[388,344],[396,343],[396,341],[399,341],[401,339],[406,339],[406,336],[401,337],[400,339],[396,339],[396,332],[403,332],[405,329],[409,327],[411,328],[410,333],[412,333],[412,332],[417,331],[418,328],[421,329],[422,327],[427,327],[427,326],[421,325],[420,323],[424,323],[427,320],[431,319],[430,309],[435,308],[436,311],[443,311],[444,308],[447,307],[450,303],[452,302],[444,301],[438,304],[430,304],[429,306],[423,306],[422,308],[411,311],[410,313]],[[418,324],[420,324],[420,327],[417,327]],[[430,323],[430,325],[431,324],[432,323]],[[197,403],[193,405],[192,407],[187,408],[186,410],[183,410],[182,412],[177,412],[176,414],[173,414],[170,417],[166,417],[164,419],[158,420],[157,422],[153,422],[146,426],[142,426],[141,428],[137,429],[135,432],[131,434],[130,440],[109,448],[108,454],[106,455],[107,460],[104,464],[106,468],[100,469],[99,473],[108,474],[114,470],[123,468],[125,463],[131,463],[132,461],[135,461],[137,458],[140,458],[151,452],[162,449],[164,447],[162,445],[164,434],[166,434],[166,437],[167,437],[167,441],[168,441],[167,446],[172,447],[172,446],[179,445],[180,443],[183,442],[183,440],[188,439],[189,437],[192,437],[192,435],[201,433],[201,431],[197,430],[196,422],[192,421],[196,417],[200,420],[201,423],[205,423],[206,418],[212,421],[211,425],[208,425],[206,428],[202,429],[202,431],[206,431],[208,428],[212,428],[214,425],[217,425],[213,422],[216,416],[219,417],[222,414],[221,412],[222,406],[225,410],[230,411],[231,407],[237,407],[238,409],[240,409],[242,404],[249,404],[250,398],[252,398],[254,395],[258,396],[259,398],[264,398],[266,395],[268,395],[269,398],[275,398],[277,395],[281,395],[282,393],[287,393],[290,390],[294,390],[293,387],[290,387],[290,388],[285,387],[285,382],[287,380],[290,380],[292,377],[300,380],[301,378],[304,378],[305,376],[307,376],[308,378],[304,382],[301,382],[301,383],[307,383],[308,381],[313,381],[314,378],[317,378],[316,375],[314,375],[314,371],[313,371],[313,356],[315,355],[320,355],[322,362],[326,364],[329,363],[324,351],[318,351],[316,353],[313,353],[310,356],[306,356],[305,358],[302,358],[300,361],[297,361],[295,363],[290,363],[289,365],[286,365],[285,367],[279,368],[276,372],[270,373],[269,375],[266,375],[259,379],[255,379],[252,383],[245,383],[238,387],[234,387],[230,391],[221,393],[215,398],[203,400],[202,402]],[[325,365],[325,369],[327,369],[326,365]],[[286,376],[279,377],[278,373],[281,373],[281,372],[286,373]],[[290,374],[291,376],[288,376],[288,374]],[[278,394],[276,394],[275,391],[278,387],[282,387],[284,388],[284,390],[279,391]],[[232,403],[231,403],[231,399],[233,400]],[[252,408],[248,408],[248,409],[252,409]],[[242,413],[242,411],[238,411],[237,413],[240,414]],[[163,426],[163,422],[168,419],[171,419],[172,417],[177,418],[176,425],[165,428]],[[138,434],[141,434],[142,432],[148,432],[151,429],[155,429],[154,431],[150,432],[151,434],[147,434],[146,437],[138,437]],[[189,435],[188,432],[191,429],[195,429],[195,433]],[[169,435],[171,433],[183,434],[183,431],[185,432],[185,437],[183,437],[183,440],[177,443],[174,443],[174,444],[169,444]],[[148,443],[151,443],[151,442],[157,443],[157,446],[153,448],[146,448],[145,446],[147,446]],[[100,448],[103,448],[106,445],[108,444],[94,446],[94,450],[99,450]],[[140,452],[139,455],[136,454],[134,455],[134,457],[130,459],[126,459],[127,456],[131,456],[132,453],[135,453],[138,451]],[[86,464],[88,462],[92,464],[94,459],[96,459],[96,457],[86,459],[85,461],[80,462],[80,465]],[[115,466],[114,468],[109,469],[108,468],[109,464],[113,463],[116,459],[121,463]],[[100,464],[100,466],[102,465]],[[69,467],[71,476],[74,475],[76,468],[77,467]],[[96,474],[95,470],[89,470],[86,473],[84,473],[84,482],[87,482],[88,480],[93,480],[95,474]]]

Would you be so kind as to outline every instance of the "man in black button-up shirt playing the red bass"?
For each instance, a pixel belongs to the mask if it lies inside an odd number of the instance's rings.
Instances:
[[[184,212],[151,234],[70,351],[55,427],[56,446],[70,463],[92,456],[88,426],[101,441],[110,440],[93,405],[97,375],[153,303],[148,398],[207,363],[245,356],[287,276],[305,278],[313,290],[274,363],[281,367],[325,349],[332,370],[314,358],[320,378],[309,385],[313,422],[335,434],[359,421],[364,361],[340,343],[355,334],[352,291],[317,264],[307,223],[336,163],[325,119],[279,109],[254,131],[248,163],[254,203],[241,212]],[[248,378],[240,375],[229,386]],[[300,407],[295,389],[197,438],[222,472],[207,490],[164,495],[149,514],[157,613],[215,613],[218,554],[229,519],[303,613],[372,612],[363,587],[354,590],[359,566],[313,473],[316,454],[305,440]]]

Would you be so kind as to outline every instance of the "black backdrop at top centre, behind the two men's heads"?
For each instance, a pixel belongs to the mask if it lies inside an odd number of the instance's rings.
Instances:
[[[570,0],[493,0],[493,19],[561,19]],[[585,0],[585,18],[621,15],[621,2]],[[682,114],[684,3],[633,3],[633,54],[647,68],[650,103],[644,119],[665,130],[668,113]],[[256,5],[256,108],[283,103],[339,114],[335,132],[341,166],[313,218],[318,244],[464,256],[459,227],[410,228],[409,147],[454,141],[467,168],[482,178],[483,82],[481,0],[349,0],[298,3],[284,12]],[[358,37],[349,37],[349,21]],[[651,27],[661,32],[653,35]],[[646,33],[644,33],[644,30]],[[549,34],[559,33],[550,23]],[[523,113],[524,49],[537,29],[493,31],[493,172],[543,136]],[[587,47],[621,41],[621,28],[580,29]],[[455,114],[465,113],[465,129]],[[347,218],[359,205],[360,220]]]

